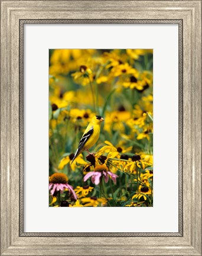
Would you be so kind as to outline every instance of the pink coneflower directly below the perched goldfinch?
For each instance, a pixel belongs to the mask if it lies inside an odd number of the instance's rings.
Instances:
[[[95,171],[87,173],[83,181],[87,181],[88,178],[91,178],[92,183],[98,185],[100,183],[100,178],[103,177],[105,180],[105,183],[108,182],[109,177],[113,180],[113,182],[116,184],[116,178],[118,178],[118,175],[113,174],[113,172],[110,172],[109,169],[106,167],[106,165],[97,165],[95,167]]]

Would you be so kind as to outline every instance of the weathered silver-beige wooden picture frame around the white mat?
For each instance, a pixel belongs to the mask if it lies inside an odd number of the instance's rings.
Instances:
[[[181,26],[179,232],[24,233],[23,24],[134,20]],[[1,255],[201,255],[200,106],[201,1],[1,1]]]

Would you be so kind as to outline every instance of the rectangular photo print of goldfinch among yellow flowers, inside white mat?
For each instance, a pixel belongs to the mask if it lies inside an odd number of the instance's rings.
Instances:
[[[48,81],[49,207],[152,207],[153,49],[49,49]]]

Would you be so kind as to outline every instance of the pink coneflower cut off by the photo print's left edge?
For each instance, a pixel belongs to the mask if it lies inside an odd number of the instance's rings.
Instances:
[[[49,190],[51,195],[55,193],[55,191],[69,190],[70,194],[73,195],[74,199],[77,200],[77,195],[71,185],[68,184],[68,177],[63,173],[54,173],[49,178]]]

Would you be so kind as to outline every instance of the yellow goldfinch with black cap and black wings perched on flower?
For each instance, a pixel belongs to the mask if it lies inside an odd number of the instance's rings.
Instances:
[[[77,148],[77,151],[74,155],[74,158],[71,161],[71,164],[73,163],[74,159],[80,155],[83,151],[87,151],[89,154],[89,148],[91,148],[100,136],[100,124],[104,121],[102,116],[95,116],[90,121],[89,125],[87,126],[85,132],[83,133],[82,139],[79,142],[79,146]]]

